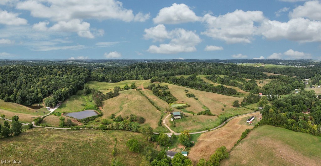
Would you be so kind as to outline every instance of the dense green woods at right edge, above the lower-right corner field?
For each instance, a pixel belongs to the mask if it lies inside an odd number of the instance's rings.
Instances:
[[[263,124],[321,136],[321,100],[313,90],[275,100],[261,113]]]

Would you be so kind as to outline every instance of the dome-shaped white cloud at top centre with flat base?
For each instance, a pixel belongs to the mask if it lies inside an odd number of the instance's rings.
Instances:
[[[180,24],[186,22],[200,21],[201,17],[196,14],[186,4],[172,4],[170,7],[160,9],[153,21],[155,24]]]

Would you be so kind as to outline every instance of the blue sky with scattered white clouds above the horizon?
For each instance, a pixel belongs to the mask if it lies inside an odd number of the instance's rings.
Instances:
[[[320,0],[1,0],[0,59],[321,59]]]

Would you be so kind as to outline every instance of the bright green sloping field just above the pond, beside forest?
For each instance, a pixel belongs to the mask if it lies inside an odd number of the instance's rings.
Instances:
[[[70,96],[64,101],[55,112],[79,112],[83,110],[94,110],[94,102],[92,101],[91,94],[82,95],[82,91],[78,91],[77,95]]]

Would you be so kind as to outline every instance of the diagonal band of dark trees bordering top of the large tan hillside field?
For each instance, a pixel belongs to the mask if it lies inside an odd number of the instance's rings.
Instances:
[[[189,87],[189,88],[193,88],[196,90],[219,93],[222,95],[236,95],[237,94],[237,91],[233,88],[227,88],[222,85],[213,86],[213,84],[209,84],[209,83],[203,81],[203,79],[196,77],[196,74],[188,76],[187,78],[169,77],[168,79],[165,79],[164,82],[168,82],[170,84],[176,84],[176,85],[183,86],[183,87]]]

